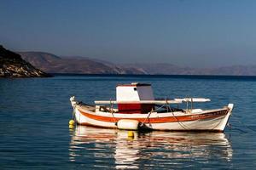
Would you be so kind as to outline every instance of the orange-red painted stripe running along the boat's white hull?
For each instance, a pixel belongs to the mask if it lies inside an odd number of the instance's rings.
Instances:
[[[188,122],[188,121],[214,118],[214,117],[226,115],[228,113],[228,110],[212,111],[210,113],[195,114],[195,115],[189,115],[189,116],[154,117],[154,118],[148,118],[148,120],[146,121],[145,121],[145,118],[136,118],[136,117],[118,118],[118,117],[109,117],[109,116],[96,116],[90,113],[86,113],[84,111],[80,111],[80,113],[84,116],[87,116],[90,119],[94,119],[102,122],[118,122],[120,119],[130,119],[130,120],[137,120],[138,122],[145,122],[145,123],[161,123],[161,122]]]

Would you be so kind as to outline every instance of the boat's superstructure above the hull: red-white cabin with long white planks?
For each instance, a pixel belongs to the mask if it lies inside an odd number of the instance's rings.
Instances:
[[[183,98],[155,100],[153,90],[150,84],[132,82],[131,84],[122,84],[116,87],[116,100],[97,100],[95,101],[96,111],[111,113],[148,113],[155,111],[157,113],[166,113],[170,111],[197,111],[193,109],[194,102],[207,102],[210,99],[204,98]],[[179,104],[187,103],[187,109],[179,109]],[[191,108],[189,109],[189,103]],[[100,106],[108,104],[110,107]],[[177,107],[171,107],[172,104]],[[113,109],[117,105],[118,109]]]

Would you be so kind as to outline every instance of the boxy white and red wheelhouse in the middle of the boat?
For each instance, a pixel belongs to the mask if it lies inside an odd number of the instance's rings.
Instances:
[[[116,87],[119,113],[148,113],[154,109],[154,104],[140,103],[142,100],[154,100],[150,84],[132,82]]]

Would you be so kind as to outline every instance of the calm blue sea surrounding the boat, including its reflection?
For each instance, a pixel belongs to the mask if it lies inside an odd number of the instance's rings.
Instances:
[[[224,133],[134,133],[68,128],[69,98],[114,99],[119,83],[149,82],[155,97],[235,104]],[[256,78],[52,77],[0,79],[0,169],[256,168]]]

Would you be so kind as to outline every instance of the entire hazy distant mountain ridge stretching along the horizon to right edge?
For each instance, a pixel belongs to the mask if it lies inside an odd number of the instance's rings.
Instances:
[[[81,56],[60,57],[44,52],[19,52],[19,54],[32,65],[49,73],[256,76],[256,65],[217,68],[182,67],[167,63],[117,65],[101,59]]]

